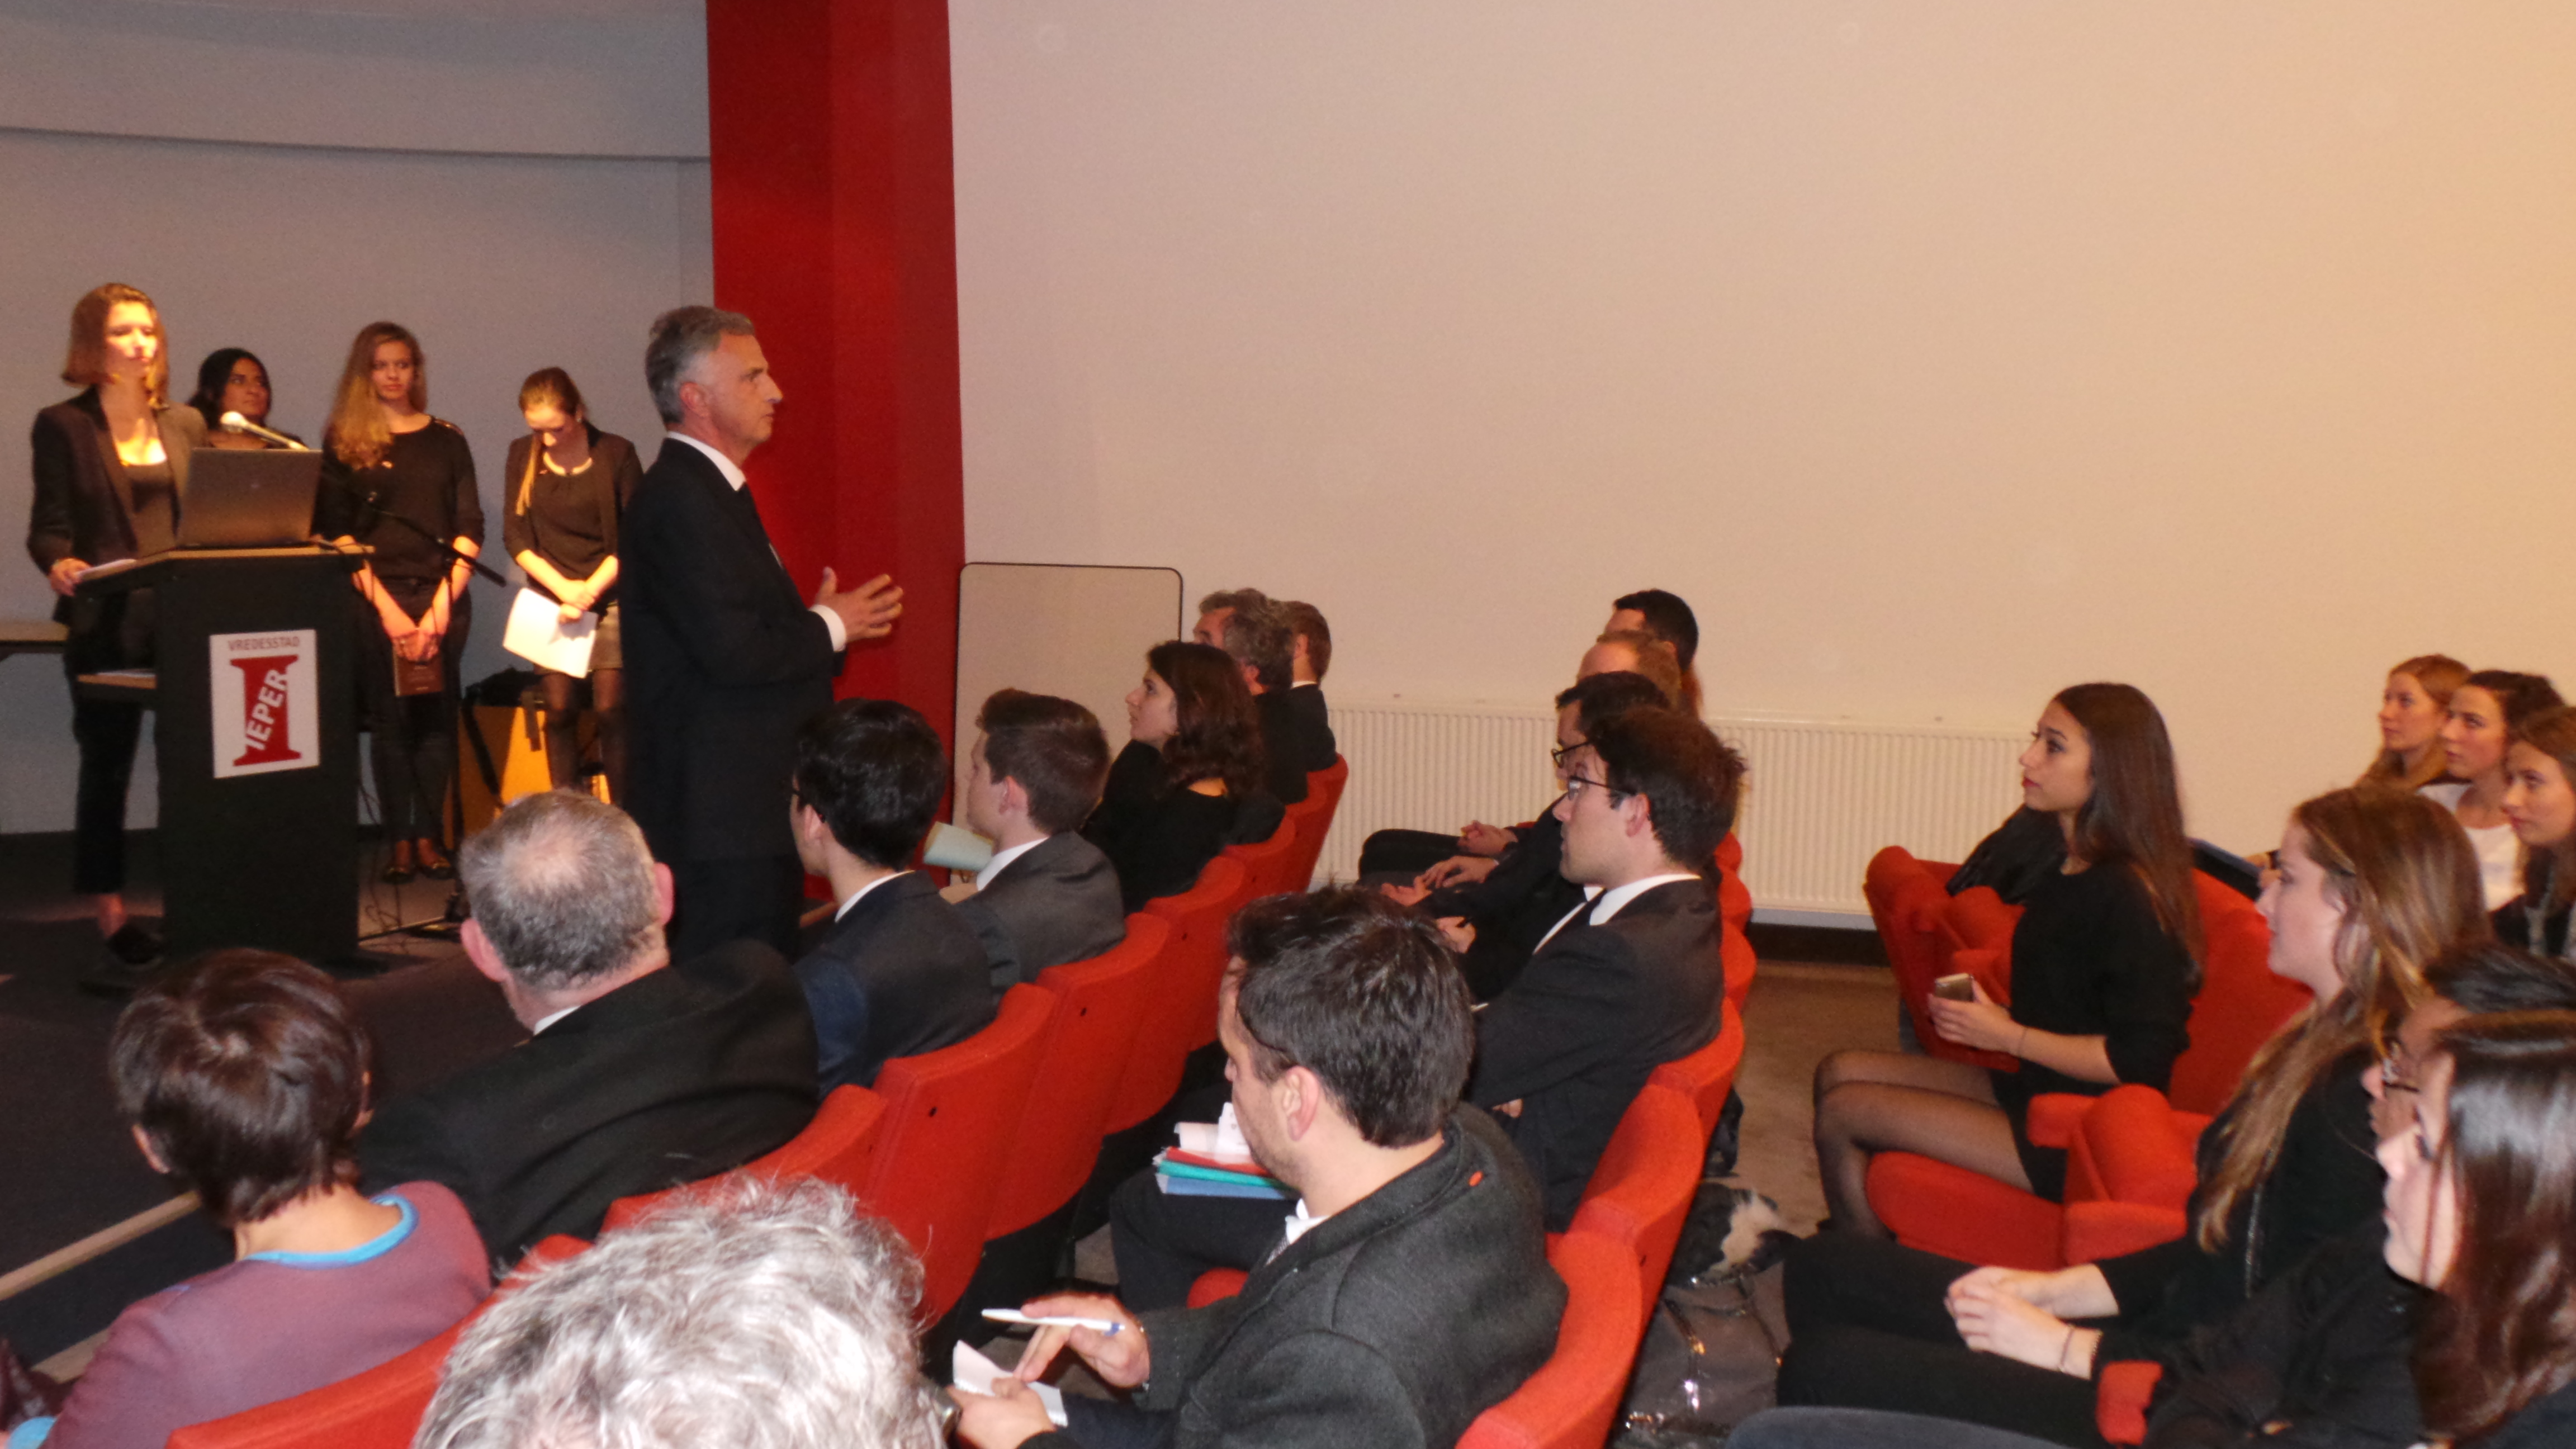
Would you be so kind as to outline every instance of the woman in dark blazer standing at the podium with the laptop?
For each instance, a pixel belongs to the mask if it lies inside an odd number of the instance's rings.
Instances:
[[[152,663],[152,590],[75,598],[72,588],[90,565],[149,557],[178,541],[188,454],[204,441],[206,420],[191,407],[170,407],[160,312],[116,281],[72,307],[62,382],[82,392],[36,413],[26,552],[62,596],[54,621],[70,629],[62,663],[77,681]],[[160,957],[160,936],[126,920],[124,900],[126,786],[142,730],[139,704],[82,699],[72,688],[72,740],[80,743],[72,890],[90,897],[98,933],[129,967]]]

